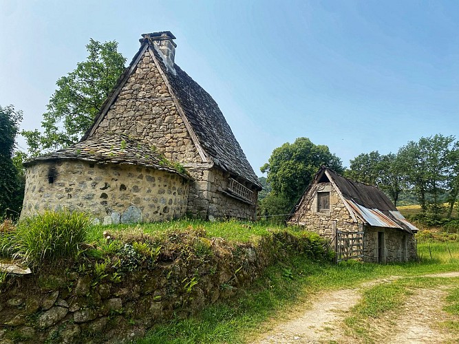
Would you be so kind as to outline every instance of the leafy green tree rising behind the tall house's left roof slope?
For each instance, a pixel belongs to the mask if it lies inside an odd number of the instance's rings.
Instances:
[[[125,69],[126,58],[117,52],[116,41],[90,39],[86,48],[87,60],[56,82],[57,89],[41,122],[44,133],[37,129],[21,133],[32,155],[78,142]]]

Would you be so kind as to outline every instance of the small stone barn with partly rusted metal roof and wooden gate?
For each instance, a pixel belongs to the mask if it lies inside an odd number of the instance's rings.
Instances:
[[[355,182],[322,166],[301,197],[289,224],[330,239],[337,260],[374,263],[416,259],[414,233],[376,186]]]

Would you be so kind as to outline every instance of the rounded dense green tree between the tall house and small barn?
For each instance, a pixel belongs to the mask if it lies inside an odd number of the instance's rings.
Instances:
[[[280,196],[292,208],[322,165],[343,172],[341,160],[327,146],[297,138],[292,144],[287,142],[276,148],[268,163],[261,166],[261,172],[268,173],[272,197]]]

